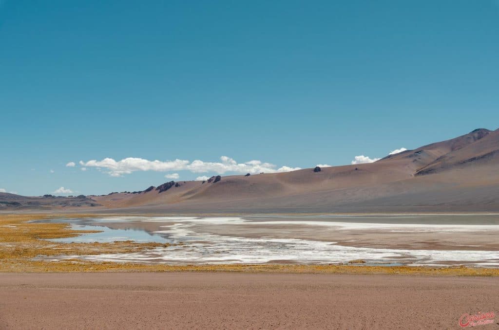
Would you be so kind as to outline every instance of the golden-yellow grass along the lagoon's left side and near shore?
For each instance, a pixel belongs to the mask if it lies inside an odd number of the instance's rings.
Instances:
[[[92,215],[57,215],[85,217]],[[47,214],[0,214],[0,272],[261,272],[321,274],[406,274],[435,276],[499,276],[499,269],[468,267],[408,267],[354,265],[183,265],[92,262],[79,259],[50,262],[34,260],[36,256],[95,255],[131,253],[170,244],[136,243],[54,243],[46,238],[74,237],[89,231],[71,230],[67,223],[29,223],[49,218]],[[91,231],[93,232],[93,231]],[[352,260],[351,263],[361,263]]]

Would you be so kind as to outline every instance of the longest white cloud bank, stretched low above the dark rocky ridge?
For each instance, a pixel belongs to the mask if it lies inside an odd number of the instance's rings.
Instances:
[[[121,176],[123,174],[130,174],[134,171],[173,171],[173,170],[188,170],[193,173],[206,173],[216,172],[224,174],[226,172],[235,173],[274,173],[274,172],[288,172],[291,170],[301,169],[300,167],[282,166],[276,168],[276,165],[270,163],[263,163],[261,161],[250,161],[246,163],[237,163],[234,159],[222,156],[221,162],[204,162],[196,160],[193,162],[186,160],[175,161],[149,161],[141,158],[125,158],[121,161],[115,161],[112,158],[105,158],[102,161],[91,160],[88,162],[80,161],[80,165],[87,167],[101,167],[107,168],[111,176]]]

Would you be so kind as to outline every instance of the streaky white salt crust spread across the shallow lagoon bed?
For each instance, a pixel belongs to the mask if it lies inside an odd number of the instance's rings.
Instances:
[[[498,225],[420,225],[310,220],[251,221],[242,217],[113,217],[110,219],[98,220],[99,222],[103,222],[104,225],[106,221],[164,223],[164,225],[160,226],[161,230],[155,231],[152,236],[168,237],[170,242],[185,242],[186,244],[183,246],[156,248],[141,253],[65,256],[62,258],[119,262],[160,262],[169,264],[260,264],[273,262],[329,264],[347,263],[351,260],[362,259],[380,264],[400,262],[408,265],[477,264],[487,267],[499,265],[499,253],[497,251],[400,250],[349,247],[336,245],[335,242],[323,242],[309,239],[286,239],[275,237],[244,238],[199,232],[200,224],[203,225],[202,228],[209,226],[210,224],[217,226],[224,224],[242,226],[304,225],[318,226],[318,230],[320,230],[319,227],[326,226],[337,230],[372,229],[401,232],[499,230]],[[60,260],[61,257],[49,257],[46,259]]]

